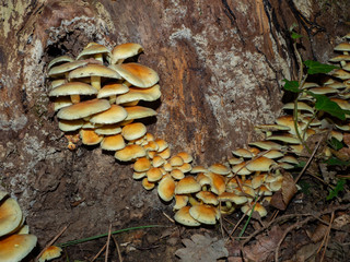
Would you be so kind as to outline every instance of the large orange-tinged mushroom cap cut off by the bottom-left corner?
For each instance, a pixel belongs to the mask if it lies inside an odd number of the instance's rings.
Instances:
[[[36,246],[34,235],[10,235],[0,239],[0,261],[15,262],[24,259]]]

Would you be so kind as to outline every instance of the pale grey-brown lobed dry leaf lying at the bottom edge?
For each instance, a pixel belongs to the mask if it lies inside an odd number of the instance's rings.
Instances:
[[[182,262],[213,262],[229,255],[223,239],[218,240],[209,235],[195,234],[190,239],[183,239],[186,248],[175,252]]]

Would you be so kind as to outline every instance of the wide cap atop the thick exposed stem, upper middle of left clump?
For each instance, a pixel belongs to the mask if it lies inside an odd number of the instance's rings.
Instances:
[[[113,69],[107,68],[103,64],[88,64],[82,68],[74,69],[68,74],[68,80],[81,79],[88,76],[102,76],[108,79],[120,79],[120,75]]]

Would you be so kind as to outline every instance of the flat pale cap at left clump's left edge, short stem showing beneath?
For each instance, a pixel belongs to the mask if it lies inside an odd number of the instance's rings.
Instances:
[[[49,96],[95,95],[97,91],[92,85],[82,82],[69,82],[51,90]]]

